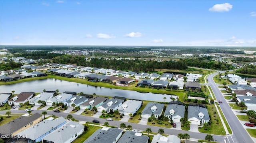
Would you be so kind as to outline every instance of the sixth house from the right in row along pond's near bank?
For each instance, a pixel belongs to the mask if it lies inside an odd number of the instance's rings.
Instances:
[[[87,100],[86,102],[80,104],[81,109],[92,109],[93,106],[98,108],[100,105],[106,102],[108,98],[106,97],[101,97],[101,96],[95,96],[94,98],[91,98]]]

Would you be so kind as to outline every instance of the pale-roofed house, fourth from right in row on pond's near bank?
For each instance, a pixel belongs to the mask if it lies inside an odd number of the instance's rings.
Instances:
[[[142,106],[142,101],[139,100],[126,100],[120,107],[118,107],[118,111],[120,114],[124,114],[129,116],[129,114],[134,115],[140,107]]]

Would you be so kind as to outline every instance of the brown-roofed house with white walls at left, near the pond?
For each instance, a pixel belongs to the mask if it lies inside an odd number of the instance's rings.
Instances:
[[[8,100],[9,105],[15,105],[18,106],[20,103],[25,103],[30,98],[34,96],[35,92],[21,92],[17,96],[14,96],[12,99]]]

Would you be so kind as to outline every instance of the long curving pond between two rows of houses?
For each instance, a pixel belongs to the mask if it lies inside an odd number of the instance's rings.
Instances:
[[[80,84],[54,78],[20,82],[10,85],[1,85],[0,93],[12,92],[13,90],[15,91],[14,94],[19,94],[20,92],[40,93],[43,92],[44,89],[48,91],[55,91],[56,89],[58,89],[60,93],[65,91],[72,91],[76,92],[77,94],[80,92],[84,92],[84,94],[95,93],[96,95],[102,96],[121,96],[129,99],[149,100],[156,102],[164,102],[164,97],[166,97],[166,102],[170,102],[171,97],[177,97],[167,94],[140,93],[132,90],[121,90],[100,86],[91,86],[87,84]]]

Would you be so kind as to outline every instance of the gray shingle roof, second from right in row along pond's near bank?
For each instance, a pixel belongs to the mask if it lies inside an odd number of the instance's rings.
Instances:
[[[168,104],[166,107],[166,110],[164,112],[164,115],[170,116],[170,110],[174,110],[174,114],[172,116],[180,116],[184,117],[185,116],[185,106],[183,105],[178,105],[178,104]]]

